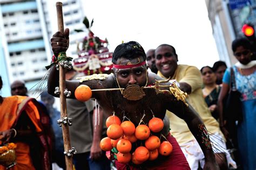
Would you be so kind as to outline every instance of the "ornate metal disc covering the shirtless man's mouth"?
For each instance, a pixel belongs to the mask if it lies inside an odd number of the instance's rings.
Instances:
[[[143,91],[143,87],[140,87],[138,85],[129,85],[124,90],[123,96],[127,100],[139,100],[142,99],[143,96],[146,96],[146,94]]]

